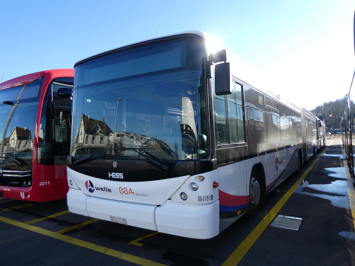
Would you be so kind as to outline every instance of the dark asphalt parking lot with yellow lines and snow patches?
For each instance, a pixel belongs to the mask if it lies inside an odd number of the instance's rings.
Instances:
[[[354,186],[340,139],[267,197],[252,220],[187,239],[92,219],[66,201],[0,199],[3,265],[355,265]],[[281,225],[275,219],[280,216]],[[288,223],[300,221],[297,229]],[[291,218],[293,219],[291,219]],[[301,220],[300,220],[301,219]],[[274,224],[273,224],[274,223]],[[286,227],[286,228],[285,228]]]

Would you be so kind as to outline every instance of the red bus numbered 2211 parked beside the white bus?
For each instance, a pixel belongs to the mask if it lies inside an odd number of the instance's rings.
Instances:
[[[0,196],[65,198],[73,74],[47,70],[0,84]]]

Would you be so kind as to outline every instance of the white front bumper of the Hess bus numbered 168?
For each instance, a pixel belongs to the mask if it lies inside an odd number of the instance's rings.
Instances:
[[[70,212],[182,237],[208,239],[219,233],[219,201],[194,205],[168,202],[161,206],[88,196],[69,189]]]

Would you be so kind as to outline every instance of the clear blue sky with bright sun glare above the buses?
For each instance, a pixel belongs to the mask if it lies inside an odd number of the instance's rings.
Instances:
[[[354,0],[0,1],[0,82],[72,68],[135,41],[199,30],[308,110],[348,93]]]

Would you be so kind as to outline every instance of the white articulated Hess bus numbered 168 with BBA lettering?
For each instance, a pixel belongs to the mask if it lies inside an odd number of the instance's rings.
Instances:
[[[215,46],[185,32],[75,64],[71,212],[207,239],[299,171],[314,116]]]

